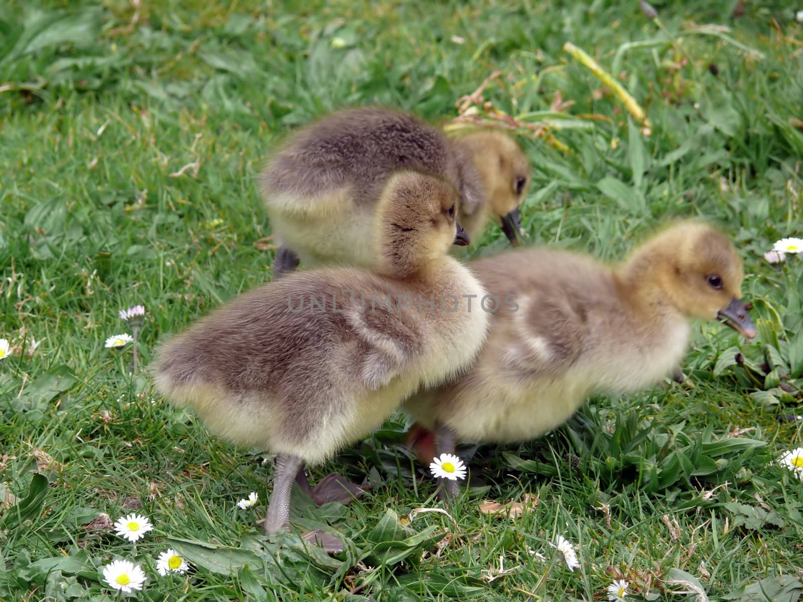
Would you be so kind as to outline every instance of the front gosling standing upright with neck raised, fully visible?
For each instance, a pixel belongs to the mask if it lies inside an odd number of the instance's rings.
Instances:
[[[465,311],[461,295],[485,293],[447,254],[466,243],[457,201],[437,177],[394,174],[377,204],[373,272],[287,275],[161,348],[162,395],[221,437],[276,455],[267,534],[287,529],[304,464],[365,436],[419,386],[454,377],[479,352],[488,317]]]

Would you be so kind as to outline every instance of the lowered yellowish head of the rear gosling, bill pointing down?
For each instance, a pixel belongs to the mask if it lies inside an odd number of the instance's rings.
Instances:
[[[460,136],[459,143],[471,155],[480,174],[487,212],[514,245],[524,238],[519,207],[527,195],[530,164],[512,136],[498,130],[480,130]]]

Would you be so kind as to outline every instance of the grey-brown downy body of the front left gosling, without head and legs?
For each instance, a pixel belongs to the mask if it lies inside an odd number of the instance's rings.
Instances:
[[[393,307],[441,287],[482,295],[449,261],[453,276],[426,290],[350,268],[260,287],[169,341],[154,368],[157,388],[230,441],[320,462],[478,352],[484,315]]]

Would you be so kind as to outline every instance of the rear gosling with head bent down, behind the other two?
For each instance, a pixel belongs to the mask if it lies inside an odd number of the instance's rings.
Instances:
[[[263,172],[263,197],[279,242],[274,275],[300,261],[370,266],[377,198],[397,169],[454,184],[458,221],[470,238],[491,218],[511,242],[520,235],[519,205],[530,170],[511,136],[483,129],[447,138],[403,112],[348,109],[296,132]]]

